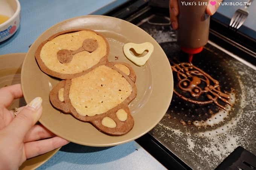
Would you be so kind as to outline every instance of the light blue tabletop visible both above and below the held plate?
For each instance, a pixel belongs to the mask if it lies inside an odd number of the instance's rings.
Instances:
[[[20,0],[21,23],[17,32],[0,42],[0,55],[26,53],[38,36],[60,21],[103,15],[127,0]],[[89,147],[70,143],[62,147],[42,169],[165,169],[135,141],[113,147]]]

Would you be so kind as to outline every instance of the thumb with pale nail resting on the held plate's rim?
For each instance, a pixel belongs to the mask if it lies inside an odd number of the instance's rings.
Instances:
[[[8,128],[17,138],[23,140],[30,128],[37,123],[42,115],[42,98],[36,97],[12,120]]]

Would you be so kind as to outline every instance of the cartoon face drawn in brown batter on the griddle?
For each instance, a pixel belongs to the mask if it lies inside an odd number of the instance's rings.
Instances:
[[[228,101],[230,96],[221,92],[219,81],[192,63],[174,63],[171,61],[171,68],[177,74],[178,79],[177,86],[179,89],[174,89],[174,93],[181,99],[199,105],[214,103],[224,110],[226,108],[219,104],[218,100],[232,105]],[[206,96],[205,100],[199,100],[200,96]]]

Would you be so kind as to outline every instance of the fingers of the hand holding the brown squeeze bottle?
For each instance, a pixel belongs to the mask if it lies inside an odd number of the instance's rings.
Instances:
[[[215,2],[214,5],[212,5],[210,2],[212,0],[209,0],[206,7],[206,13],[208,15],[213,15],[217,9],[219,8],[219,3],[222,2],[222,0],[215,0],[212,2]],[[178,14],[179,14],[179,7],[178,7],[178,0],[169,0],[169,12],[170,12],[170,20],[172,24],[172,28],[174,30],[178,29]]]

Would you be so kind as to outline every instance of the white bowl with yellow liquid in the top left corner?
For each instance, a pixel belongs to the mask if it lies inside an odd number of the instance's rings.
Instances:
[[[0,24],[0,42],[10,38],[20,26],[20,2],[18,0],[0,0],[0,19],[9,19]]]

